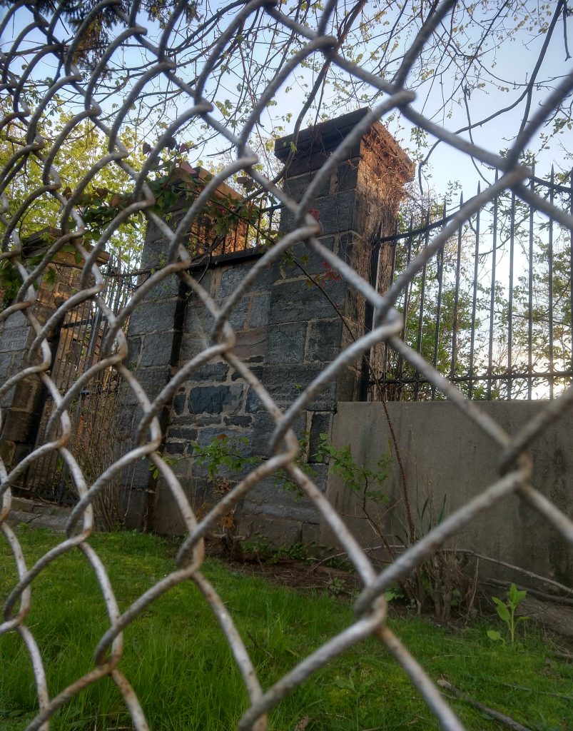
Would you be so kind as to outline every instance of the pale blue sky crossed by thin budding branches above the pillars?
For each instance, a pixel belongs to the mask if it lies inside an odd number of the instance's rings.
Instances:
[[[2,2],[10,5],[8,0]],[[30,7],[49,15],[52,6],[48,0],[37,0]],[[132,129],[143,124],[143,134],[153,144],[154,132],[166,129],[181,115],[189,88],[197,84],[222,124],[235,132],[250,125],[265,89],[308,42],[303,29],[308,33],[316,29],[325,10],[321,0],[279,0],[272,14],[259,4],[244,14],[228,42],[218,48],[221,35],[245,7],[242,0],[215,7],[204,1],[121,0],[102,4],[98,10],[96,0],[74,0],[63,4],[60,20],[69,29],[66,43],[73,48],[69,60],[80,65],[86,80],[130,18],[137,18],[146,29],[145,39],[129,37],[99,69],[93,101],[112,118],[151,69],[143,93],[136,94],[126,110],[124,124]],[[333,4],[322,27],[349,64],[390,81],[436,7],[430,0],[343,0]],[[20,23],[26,21],[27,12],[21,8],[16,13]],[[417,92],[414,107],[468,140],[498,140],[500,147],[503,141],[510,143],[570,65],[570,15],[565,0],[459,0],[413,59],[406,83]],[[79,42],[74,44],[78,33]],[[158,46],[176,72],[159,69]],[[13,53],[26,61],[29,45],[20,43]],[[557,59],[561,64],[556,64]],[[40,65],[26,81],[24,93],[29,99],[38,98],[63,72],[60,65],[56,74],[44,75]],[[72,88],[66,88],[65,94],[69,105],[83,102]],[[316,51],[301,59],[268,100],[265,113],[252,126],[251,146],[262,152],[263,164],[270,166],[269,139],[358,105],[373,105],[382,96],[368,80],[333,63],[329,53]],[[566,95],[550,111],[534,142],[537,151],[559,148],[571,129],[571,103],[570,94]],[[424,170],[439,142],[400,111],[386,121],[411,146]],[[201,118],[182,121],[176,135],[180,142],[192,140],[191,162],[205,154],[221,154],[229,144]],[[563,154],[569,156],[567,145],[562,146]]]

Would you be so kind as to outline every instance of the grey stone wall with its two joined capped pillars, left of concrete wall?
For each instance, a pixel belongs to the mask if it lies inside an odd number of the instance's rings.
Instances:
[[[365,110],[344,115],[313,129],[297,140],[284,187],[300,200],[318,167],[340,143]],[[286,159],[292,138],[276,143],[279,159]],[[366,279],[378,276],[373,268],[374,245],[393,221],[403,183],[413,166],[382,125],[365,135],[349,158],[338,166],[316,192],[312,215],[321,224],[321,242],[343,257]],[[279,235],[294,221],[283,210]],[[161,264],[164,242],[159,232],[147,232],[143,268]],[[263,251],[243,251],[216,257],[206,271],[196,270],[216,303],[235,291]],[[382,268],[383,269],[383,268]],[[381,269],[381,270],[382,270]],[[316,286],[316,281],[320,286]],[[384,286],[383,279],[379,279]],[[235,307],[229,319],[237,334],[235,355],[248,363],[281,409],[288,408],[353,338],[368,330],[363,298],[346,281],[330,276],[325,262],[303,244],[291,257],[270,265]],[[210,344],[213,321],[196,295],[175,277],[164,279],[132,315],[129,324],[130,363],[137,379],[153,398],[175,373]],[[357,363],[327,387],[298,417],[295,431],[312,455],[321,433],[332,431],[338,401],[363,397],[362,364]],[[140,414],[126,393],[122,418],[124,433],[133,433]],[[219,496],[205,470],[191,459],[193,444],[205,446],[219,435],[238,442],[245,455],[265,458],[273,419],[254,391],[224,360],[198,368],[175,394],[162,414],[164,454],[198,511]],[[243,443],[245,442],[245,443]],[[317,464],[316,482],[326,489],[326,466]],[[129,491],[128,523],[162,533],[178,533],[183,523],[170,491],[156,485],[148,466],[135,466],[125,487]],[[216,489],[216,486],[215,486]],[[319,516],[314,507],[270,479],[257,485],[238,507],[235,520],[245,534],[259,534],[277,543],[313,542],[319,538]]]

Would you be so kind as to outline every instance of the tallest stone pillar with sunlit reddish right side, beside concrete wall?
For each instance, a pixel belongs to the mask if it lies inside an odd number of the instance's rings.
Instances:
[[[289,195],[297,201],[303,197],[322,164],[367,112],[357,110],[300,132],[295,156],[286,171],[285,189]],[[282,162],[293,144],[292,135],[277,141],[275,152]],[[354,145],[330,178],[322,182],[311,202],[311,214],[321,225],[321,243],[381,292],[389,284],[392,251],[381,251],[377,241],[393,231],[403,186],[413,175],[414,164],[387,129],[377,123]],[[286,213],[281,230],[286,233],[293,224],[292,215]],[[283,344],[280,362],[287,358],[286,362],[310,375],[321,371],[352,341],[370,330],[372,312],[364,298],[346,281],[338,280],[305,244],[296,246],[293,254],[296,263],[282,266],[283,276],[277,277],[273,288],[269,341]],[[324,292],[309,287],[309,275],[319,281]],[[382,355],[382,345],[369,355],[369,365],[376,376],[380,375]],[[311,410],[311,452],[317,435],[330,433],[337,401],[365,398],[361,387],[364,375],[368,377],[368,362],[366,368],[364,363],[356,363],[339,374]]]

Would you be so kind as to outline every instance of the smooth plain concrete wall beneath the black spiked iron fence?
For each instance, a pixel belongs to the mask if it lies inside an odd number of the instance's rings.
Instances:
[[[509,433],[516,433],[544,406],[542,401],[484,401],[479,408]],[[400,448],[411,493],[414,516],[425,499],[432,496],[436,511],[446,497],[451,514],[498,477],[500,450],[452,404],[445,401],[387,404],[392,427]],[[356,461],[370,465],[381,454],[392,454],[390,429],[382,404],[338,404],[333,441],[349,445]],[[532,484],[558,508],[573,517],[573,412],[547,428],[529,450],[534,460]],[[395,459],[387,480],[390,504],[403,515],[399,473]],[[379,539],[361,519],[360,506],[337,477],[330,477],[327,495],[338,512],[344,514],[363,545],[380,545]],[[379,513],[380,515],[380,513]],[[355,517],[356,516],[356,517]],[[428,515],[425,516],[427,522]],[[384,519],[387,533],[403,535],[397,520]],[[326,526],[321,539],[335,542]],[[396,540],[395,542],[401,542]],[[461,531],[454,544],[469,548],[509,564],[573,583],[573,548],[558,536],[539,513],[516,496],[480,515]],[[492,565],[480,564],[484,573]],[[500,576],[500,569],[495,569]],[[515,578],[515,576],[514,576]]]

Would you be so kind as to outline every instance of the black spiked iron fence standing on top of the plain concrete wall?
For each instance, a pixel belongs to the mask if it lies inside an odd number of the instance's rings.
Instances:
[[[529,190],[567,213],[572,175],[531,175]],[[480,190],[478,186],[477,195]],[[391,247],[393,284],[463,208],[406,213]],[[418,224],[420,222],[420,224]],[[460,222],[443,249],[403,287],[401,338],[473,399],[554,398],[573,376],[572,230],[515,192],[501,192]],[[407,359],[387,350],[382,394],[390,401],[443,398]]]

